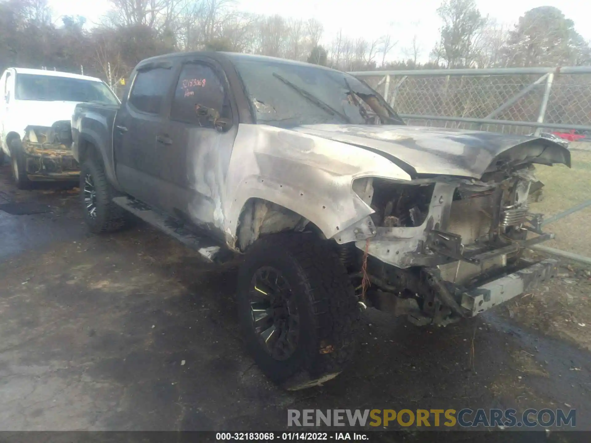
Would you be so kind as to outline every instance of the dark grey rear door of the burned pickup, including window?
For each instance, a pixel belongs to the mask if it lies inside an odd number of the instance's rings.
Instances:
[[[113,123],[115,171],[121,187],[145,203],[158,206],[161,149],[165,131],[163,103],[173,83],[171,64],[142,67]]]

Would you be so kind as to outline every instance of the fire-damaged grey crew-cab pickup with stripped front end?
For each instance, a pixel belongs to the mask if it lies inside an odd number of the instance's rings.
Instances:
[[[268,57],[161,56],[128,84],[74,113],[87,224],[134,214],[206,260],[242,255],[243,336],[287,389],[343,370],[363,308],[446,325],[553,276],[522,258],[552,237],[534,164],[570,167],[548,139],[405,126],[355,77]]]

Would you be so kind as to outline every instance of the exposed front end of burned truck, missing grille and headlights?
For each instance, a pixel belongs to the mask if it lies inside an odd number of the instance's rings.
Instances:
[[[554,260],[521,259],[525,247],[553,238],[541,231],[542,214],[529,211],[534,172],[530,164],[483,180],[358,179],[353,190],[371,202],[376,234],[339,245],[339,254],[362,303],[445,325],[551,278]]]

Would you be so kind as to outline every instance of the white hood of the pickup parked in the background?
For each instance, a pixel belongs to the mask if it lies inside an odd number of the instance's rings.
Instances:
[[[72,120],[78,102],[15,100],[10,109],[12,130],[21,134],[27,126],[51,126],[59,120]]]

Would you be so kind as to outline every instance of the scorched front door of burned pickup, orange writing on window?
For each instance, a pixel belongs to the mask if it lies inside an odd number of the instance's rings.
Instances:
[[[170,191],[167,210],[223,238],[226,171],[238,131],[226,76],[211,60],[186,60],[170,100],[160,142],[160,177]],[[236,109],[236,108],[234,108]],[[227,119],[216,128],[216,117]],[[215,229],[217,228],[217,229]]]

